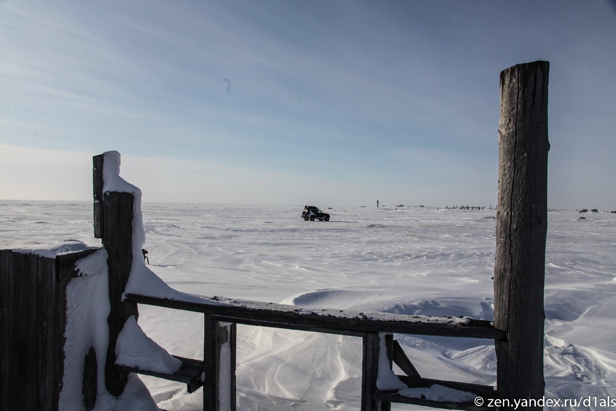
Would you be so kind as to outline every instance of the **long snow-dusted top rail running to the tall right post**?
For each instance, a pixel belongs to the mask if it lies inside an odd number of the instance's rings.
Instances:
[[[505,333],[492,327],[490,322],[474,320],[468,325],[423,323],[416,316],[400,316],[407,320],[375,320],[368,317],[345,317],[318,312],[295,312],[290,306],[270,304],[267,309],[253,309],[232,304],[215,305],[216,301],[203,303],[177,301],[152,296],[129,294],[128,301],[139,304],[168,307],[184,311],[202,312],[213,315],[221,322],[262,325],[264,327],[288,328],[292,330],[314,330],[342,335],[361,336],[365,332],[389,332],[400,334],[440,335],[469,338],[504,339]],[[382,313],[377,313],[382,314]]]

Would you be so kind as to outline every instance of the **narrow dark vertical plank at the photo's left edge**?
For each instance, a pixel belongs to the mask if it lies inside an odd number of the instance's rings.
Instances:
[[[9,409],[9,363],[10,352],[10,250],[0,250],[0,410]]]

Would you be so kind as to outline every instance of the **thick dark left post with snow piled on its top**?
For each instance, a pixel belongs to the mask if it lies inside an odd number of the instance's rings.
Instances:
[[[120,396],[128,381],[115,368],[115,348],[118,335],[131,315],[138,316],[137,304],[122,301],[132,267],[132,225],[135,196],[132,193],[107,192],[103,194],[104,230],[103,246],[107,250],[109,271],[110,312],[109,346],[105,362],[105,386],[113,396]]]

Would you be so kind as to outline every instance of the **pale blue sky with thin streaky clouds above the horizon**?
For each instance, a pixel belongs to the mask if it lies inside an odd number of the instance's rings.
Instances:
[[[496,205],[499,75],[548,60],[548,207],[616,210],[616,1],[0,0],[0,199]]]

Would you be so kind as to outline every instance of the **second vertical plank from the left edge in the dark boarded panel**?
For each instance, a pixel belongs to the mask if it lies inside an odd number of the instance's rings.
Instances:
[[[12,254],[9,279],[10,410],[35,410],[38,406],[37,263],[36,255]]]

